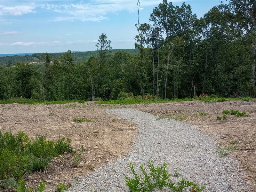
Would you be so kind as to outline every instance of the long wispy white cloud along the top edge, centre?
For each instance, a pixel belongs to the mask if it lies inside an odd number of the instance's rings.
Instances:
[[[172,0],[178,1],[182,0]],[[158,5],[161,2],[162,0],[141,0],[140,8]],[[137,0],[91,0],[81,4],[43,4],[41,8],[59,13],[54,21],[101,21],[108,19],[108,13],[137,11]]]

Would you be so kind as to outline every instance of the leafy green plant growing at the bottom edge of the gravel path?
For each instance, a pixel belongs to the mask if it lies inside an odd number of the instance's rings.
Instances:
[[[200,187],[198,184],[186,181],[185,179],[180,180],[176,184],[171,180],[171,174],[166,170],[167,164],[164,163],[161,166],[155,167],[154,164],[149,161],[149,173],[146,172],[143,165],[140,165],[140,172],[142,176],[136,173],[134,166],[130,163],[129,168],[132,172],[133,178],[125,176],[126,185],[130,192],[151,192],[158,190],[164,190],[169,188],[172,192],[181,192],[185,188],[194,189],[196,192],[204,191],[205,187]],[[197,190],[196,190],[197,189]]]

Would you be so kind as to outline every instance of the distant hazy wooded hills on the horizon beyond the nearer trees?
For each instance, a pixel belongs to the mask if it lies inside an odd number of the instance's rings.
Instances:
[[[113,49],[110,54],[113,55],[118,51],[124,51],[131,54],[137,54],[138,49]],[[81,63],[87,61],[92,56],[97,56],[99,51],[86,51],[86,52],[72,52],[75,63]],[[51,53],[57,60],[60,60],[62,53]],[[0,54],[5,55],[0,57],[0,66],[7,64],[14,65],[15,63],[28,63],[28,62],[40,62],[41,53],[18,53],[18,54]],[[10,55],[10,56],[9,56]]]

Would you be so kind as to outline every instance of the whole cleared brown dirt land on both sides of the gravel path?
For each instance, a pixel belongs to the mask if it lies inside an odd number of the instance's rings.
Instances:
[[[227,101],[205,103],[203,101],[172,102],[158,104],[135,105],[96,105],[93,102],[69,103],[58,105],[0,105],[0,129],[16,133],[24,131],[30,137],[37,134],[57,140],[59,136],[72,139],[72,145],[81,151],[82,168],[74,169],[73,156],[64,155],[55,159],[48,170],[53,178],[47,189],[53,189],[62,182],[68,184],[76,177],[86,175],[104,163],[113,161],[131,151],[131,144],[136,134],[136,126],[116,116],[108,114],[104,109],[136,108],[156,115],[156,118],[173,118],[194,125],[196,130],[210,136],[217,145],[223,148],[236,146],[228,156],[237,158],[241,167],[244,182],[256,183],[256,102]],[[248,117],[227,115],[226,120],[216,120],[223,116],[222,110],[234,109],[246,111]],[[200,115],[205,113],[206,115]],[[92,122],[75,123],[75,118],[91,119]],[[94,122],[95,121],[95,122]],[[99,129],[98,133],[93,133]],[[84,151],[82,151],[82,145]],[[217,148],[217,147],[216,147]],[[100,160],[100,161],[99,161]],[[88,162],[88,163],[87,163]],[[86,164],[87,163],[87,164]],[[89,166],[91,165],[91,166]],[[46,175],[43,174],[44,177]],[[46,177],[47,178],[47,177]],[[34,182],[36,180],[36,182]],[[28,185],[35,186],[41,181],[39,174],[28,175]],[[255,190],[256,191],[256,190]]]

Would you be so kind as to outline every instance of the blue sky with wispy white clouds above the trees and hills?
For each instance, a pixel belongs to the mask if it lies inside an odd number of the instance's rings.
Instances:
[[[203,17],[220,0],[190,4]],[[162,0],[140,0],[140,23]],[[0,54],[96,50],[106,33],[113,49],[134,48],[137,0],[0,0]]]

